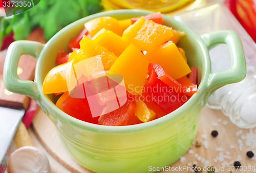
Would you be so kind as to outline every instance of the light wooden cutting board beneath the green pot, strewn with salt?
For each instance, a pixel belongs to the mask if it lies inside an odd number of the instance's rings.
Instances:
[[[216,138],[210,135],[215,129],[219,132],[219,135]],[[256,130],[256,128],[254,128],[254,130]],[[38,110],[34,117],[33,125],[29,130],[29,133],[35,146],[43,149],[47,154],[53,172],[91,172],[90,170],[80,166],[72,159],[67,149],[60,142],[54,124],[41,110]],[[209,161],[209,166],[215,166],[218,169],[223,163],[225,163],[225,161],[233,163],[236,160],[241,160],[241,164],[243,166],[248,166],[249,164],[256,166],[254,158],[249,159],[246,156],[246,152],[251,149],[255,149],[254,153],[256,153],[256,148],[253,148],[253,145],[246,146],[246,140],[242,140],[243,146],[240,148],[241,150],[239,149],[240,145],[238,144],[238,140],[242,135],[246,136],[248,133],[248,129],[241,130],[241,128],[232,124],[229,121],[229,118],[223,115],[221,111],[211,110],[205,106],[201,111],[198,134],[195,139],[195,141],[200,142],[202,145],[198,147],[196,144],[193,144],[184,157],[174,163],[171,167],[175,168],[187,165],[192,167],[191,164],[194,164],[194,162],[197,162],[196,164],[198,166],[204,167],[207,166],[205,165],[207,160]],[[256,133],[254,138],[256,139]],[[225,156],[223,161],[221,153]],[[229,165],[232,166],[232,164]],[[225,171],[219,172],[230,172],[227,171],[227,168],[228,167],[226,166]],[[170,168],[170,170],[172,169]]]

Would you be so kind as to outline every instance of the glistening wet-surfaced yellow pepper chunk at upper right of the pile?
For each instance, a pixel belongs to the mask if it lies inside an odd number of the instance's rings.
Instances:
[[[123,32],[123,39],[141,51],[152,51],[173,36],[172,29],[141,17]]]

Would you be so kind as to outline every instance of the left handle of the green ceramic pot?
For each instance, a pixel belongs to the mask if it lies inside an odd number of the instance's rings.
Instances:
[[[19,40],[14,41],[9,46],[4,66],[4,83],[7,90],[39,100],[40,95],[36,83],[30,80],[21,80],[18,78],[17,68],[20,56],[26,54],[39,57],[43,44],[36,41]]]

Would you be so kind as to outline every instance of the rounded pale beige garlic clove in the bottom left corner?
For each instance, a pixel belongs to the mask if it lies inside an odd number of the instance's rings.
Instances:
[[[46,155],[37,147],[23,146],[9,157],[7,171],[10,173],[47,173],[51,167]]]

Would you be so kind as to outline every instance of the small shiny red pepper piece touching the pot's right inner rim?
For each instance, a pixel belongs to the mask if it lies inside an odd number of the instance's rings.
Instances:
[[[187,76],[177,79],[177,81],[182,85],[182,92],[186,96],[192,96],[197,92],[197,85],[192,83]]]

